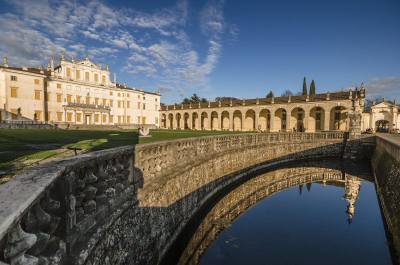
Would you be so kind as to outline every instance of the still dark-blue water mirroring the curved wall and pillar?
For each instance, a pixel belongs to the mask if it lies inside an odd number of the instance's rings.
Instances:
[[[369,165],[331,159],[284,166],[248,179],[195,216],[203,219],[174,262],[390,263]]]

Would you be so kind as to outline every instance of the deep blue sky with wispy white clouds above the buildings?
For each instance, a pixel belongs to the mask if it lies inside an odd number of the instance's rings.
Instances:
[[[0,0],[0,36],[9,66],[88,54],[167,104],[279,96],[303,77],[400,99],[398,0]]]

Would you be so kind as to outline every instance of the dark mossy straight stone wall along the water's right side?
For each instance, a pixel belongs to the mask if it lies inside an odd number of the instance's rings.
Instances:
[[[397,253],[400,253],[399,153],[399,146],[376,137],[376,149],[371,159],[372,168],[382,210]]]

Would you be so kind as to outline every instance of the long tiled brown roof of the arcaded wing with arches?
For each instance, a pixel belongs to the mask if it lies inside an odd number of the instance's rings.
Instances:
[[[340,91],[340,92],[332,92],[329,94],[329,101],[335,100],[349,100],[349,91]],[[326,101],[326,93],[322,94],[310,94],[308,101],[306,101],[306,95],[292,95],[290,96],[290,103],[305,103],[305,102],[320,102]],[[256,105],[277,105],[277,104],[287,104],[289,99],[288,96],[277,96],[274,97],[273,103],[272,97],[263,97],[257,99],[244,99],[244,106],[256,106]],[[199,103],[191,103],[191,108],[198,108]],[[218,106],[218,101],[209,102],[211,108],[218,108],[218,107],[238,107],[243,106],[243,99],[236,99],[232,100],[232,105],[230,106],[230,101],[221,101],[221,106]],[[177,109],[190,109],[190,104],[183,104],[183,108],[181,108],[182,104],[177,104]],[[173,110],[174,105],[168,105],[168,110]],[[199,108],[208,108],[208,102],[200,103]],[[166,110],[166,105],[161,107],[161,111]]]

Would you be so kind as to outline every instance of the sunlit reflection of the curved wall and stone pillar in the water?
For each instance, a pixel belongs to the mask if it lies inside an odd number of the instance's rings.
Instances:
[[[179,255],[179,261],[164,260],[164,263],[197,264],[207,247],[248,208],[266,197],[295,186],[299,187],[301,195],[303,185],[310,191],[312,182],[320,183],[324,187],[333,185],[344,188],[345,194],[342,198],[348,202],[345,212],[348,215],[347,221],[351,223],[361,181],[371,180],[370,175],[356,174],[348,170],[342,160],[336,159],[297,162],[286,164],[284,168],[276,166],[227,192],[219,201],[214,202],[205,216],[194,216],[197,219],[202,218],[201,223],[182,231],[186,236],[188,233],[192,233],[192,236],[189,241],[182,240],[182,252],[170,255]]]

